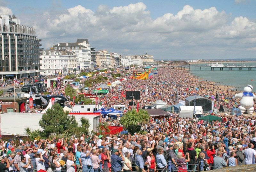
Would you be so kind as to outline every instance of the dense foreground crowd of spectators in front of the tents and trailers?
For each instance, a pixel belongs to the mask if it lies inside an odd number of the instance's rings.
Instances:
[[[18,145],[1,140],[0,171],[162,172],[169,164],[185,172],[255,164],[256,118],[221,117],[212,123],[175,115],[151,118],[142,126],[145,135],[20,139]]]

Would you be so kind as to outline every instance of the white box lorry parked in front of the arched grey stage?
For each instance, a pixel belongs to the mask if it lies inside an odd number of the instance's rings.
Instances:
[[[199,118],[203,117],[202,106],[195,106],[196,113],[194,113],[194,106],[180,106],[179,113],[180,118],[195,118],[198,121]]]

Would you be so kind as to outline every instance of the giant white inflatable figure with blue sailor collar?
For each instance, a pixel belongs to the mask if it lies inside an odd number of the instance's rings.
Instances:
[[[252,85],[244,87],[244,92],[236,94],[235,98],[240,98],[240,106],[238,107],[241,110],[241,113],[244,114],[244,111],[247,110],[248,114],[252,114],[254,110],[253,99],[256,99],[256,96],[252,93]]]

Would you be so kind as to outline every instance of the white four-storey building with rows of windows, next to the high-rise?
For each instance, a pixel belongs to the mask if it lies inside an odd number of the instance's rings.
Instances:
[[[76,55],[67,50],[44,50],[40,55],[41,75],[73,73],[77,67]]]

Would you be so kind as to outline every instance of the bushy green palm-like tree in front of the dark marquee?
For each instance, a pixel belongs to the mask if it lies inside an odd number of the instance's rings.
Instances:
[[[135,109],[128,111],[121,117],[120,123],[128,130],[129,133],[140,132],[141,125],[147,124],[149,121],[148,112],[139,110],[137,113]]]

